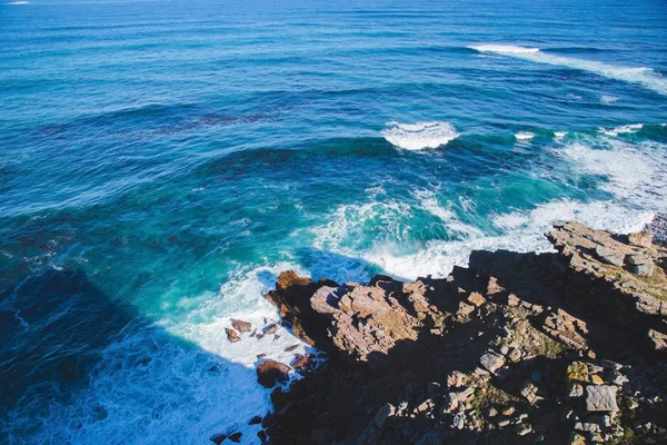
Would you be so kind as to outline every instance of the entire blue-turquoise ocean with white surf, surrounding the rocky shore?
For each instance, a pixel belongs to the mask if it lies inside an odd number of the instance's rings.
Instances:
[[[0,442],[257,443],[279,271],[667,212],[664,1],[450,3],[0,4]]]

